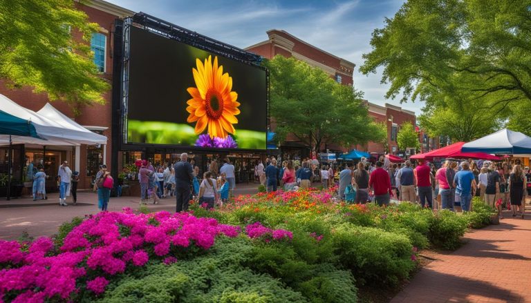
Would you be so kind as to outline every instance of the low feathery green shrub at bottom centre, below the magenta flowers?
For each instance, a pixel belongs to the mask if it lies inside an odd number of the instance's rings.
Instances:
[[[211,250],[170,266],[149,262],[127,271],[111,281],[100,302],[308,302],[270,275],[242,266],[254,251],[245,237],[221,237]]]

